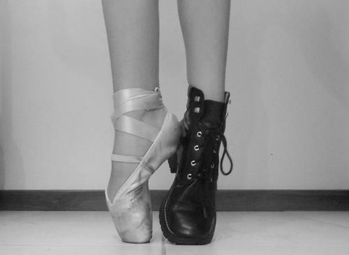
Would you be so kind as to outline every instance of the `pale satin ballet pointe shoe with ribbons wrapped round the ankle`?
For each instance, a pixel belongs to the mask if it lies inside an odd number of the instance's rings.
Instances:
[[[119,188],[113,199],[105,190],[107,207],[124,242],[149,242],[152,233],[151,199],[148,180],[154,171],[177,150],[181,127],[177,117],[170,114],[158,88],[126,88],[114,93],[114,129],[151,141],[143,157],[112,154],[112,161],[138,163],[131,176]],[[165,119],[161,129],[126,116],[131,111],[164,109]]]

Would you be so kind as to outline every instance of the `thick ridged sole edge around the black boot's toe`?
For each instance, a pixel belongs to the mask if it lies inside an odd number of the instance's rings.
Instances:
[[[166,205],[166,201],[168,200],[168,195],[166,195],[165,198],[163,199],[159,213],[158,213],[161,230],[163,231],[163,235],[165,236],[165,238],[169,242],[172,242],[174,245],[207,245],[209,244],[213,238],[213,234],[209,235],[208,238],[184,238],[182,236],[175,235],[170,230],[165,219],[165,205]]]

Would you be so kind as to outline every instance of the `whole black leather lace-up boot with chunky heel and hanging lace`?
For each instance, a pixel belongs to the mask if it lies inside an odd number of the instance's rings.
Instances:
[[[205,245],[214,235],[218,164],[224,175],[232,171],[223,134],[229,97],[225,92],[225,102],[205,100],[200,89],[188,88],[187,110],[181,122],[185,134],[177,155],[169,160],[176,176],[159,212],[163,235],[177,245]],[[219,162],[221,141],[224,151]],[[222,168],[224,155],[230,160],[228,172]]]

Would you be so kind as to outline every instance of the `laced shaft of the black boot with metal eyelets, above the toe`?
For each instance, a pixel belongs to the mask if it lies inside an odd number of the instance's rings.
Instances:
[[[200,89],[188,88],[187,110],[183,125],[180,164],[177,178],[185,183],[194,180],[205,189],[216,190],[218,178],[219,148],[225,130],[225,118],[230,93],[225,93],[225,102],[205,100]]]

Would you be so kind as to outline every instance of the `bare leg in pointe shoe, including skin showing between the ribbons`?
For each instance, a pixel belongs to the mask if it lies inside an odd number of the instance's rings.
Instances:
[[[158,86],[158,0],[102,0],[102,4],[114,92],[135,87],[153,91]],[[134,111],[127,115],[160,127],[165,116],[162,111]],[[113,153],[144,155],[150,145],[145,139],[115,131]],[[112,162],[107,187],[110,199],[135,167],[136,164]]]

